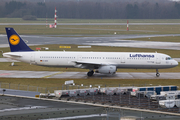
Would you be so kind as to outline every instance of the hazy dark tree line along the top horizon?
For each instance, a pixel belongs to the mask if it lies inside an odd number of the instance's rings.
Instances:
[[[162,1],[61,1],[20,2],[1,1],[0,17],[22,18],[32,15],[37,18],[53,18],[54,8],[58,18],[73,19],[179,19],[179,2]]]

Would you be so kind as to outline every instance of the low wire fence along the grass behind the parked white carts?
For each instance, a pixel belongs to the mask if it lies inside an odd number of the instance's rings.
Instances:
[[[0,82],[1,89],[13,89],[13,90],[23,90],[23,91],[34,91],[40,93],[53,93],[54,90],[72,90],[72,89],[86,89],[86,88],[106,88],[106,87],[144,87],[144,86],[157,86],[153,84],[95,84],[95,85],[59,85],[58,87],[40,87],[32,85],[23,85],[23,84],[12,84]]]

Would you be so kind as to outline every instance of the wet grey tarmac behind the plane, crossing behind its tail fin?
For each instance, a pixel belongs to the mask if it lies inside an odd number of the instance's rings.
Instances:
[[[98,45],[98,46],[116,46],[116,47],[136,47],[136,48],[154,48],[154,49],[173,49],[180,50],[178,42],[155,42],[155,41],[135,41],[124,40],[131,38],[144,37],[162,37],[162,36],[180,36],[180,34],[166,35],[105,35],[91,37],[48,37],[46,35],[21,35],[28,45],[46,45],[46,44],[76,44],[76,45]],[[8,47],[7,37],[0,35],[0,47]]]

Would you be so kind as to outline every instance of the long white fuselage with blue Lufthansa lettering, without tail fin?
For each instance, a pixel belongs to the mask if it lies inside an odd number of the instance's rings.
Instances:
[[[35,65],[55,67],[77,67],[77,61],[134,69],[163,69],[178,65],[177,61],[162,53],[32,51],[8,52],[3,56]]]

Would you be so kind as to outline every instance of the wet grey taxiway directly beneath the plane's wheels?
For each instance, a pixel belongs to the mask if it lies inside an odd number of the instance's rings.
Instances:
[[[141,72],[118,72],[115,75],[94,74],[90,78],[97,79],[180,79],[180,73],[160,73],[156,77],[154,73]],[[14,71],[0,70],[0,78],[71,78],[88,79],[86,72],[63,72],[63,71]]]

